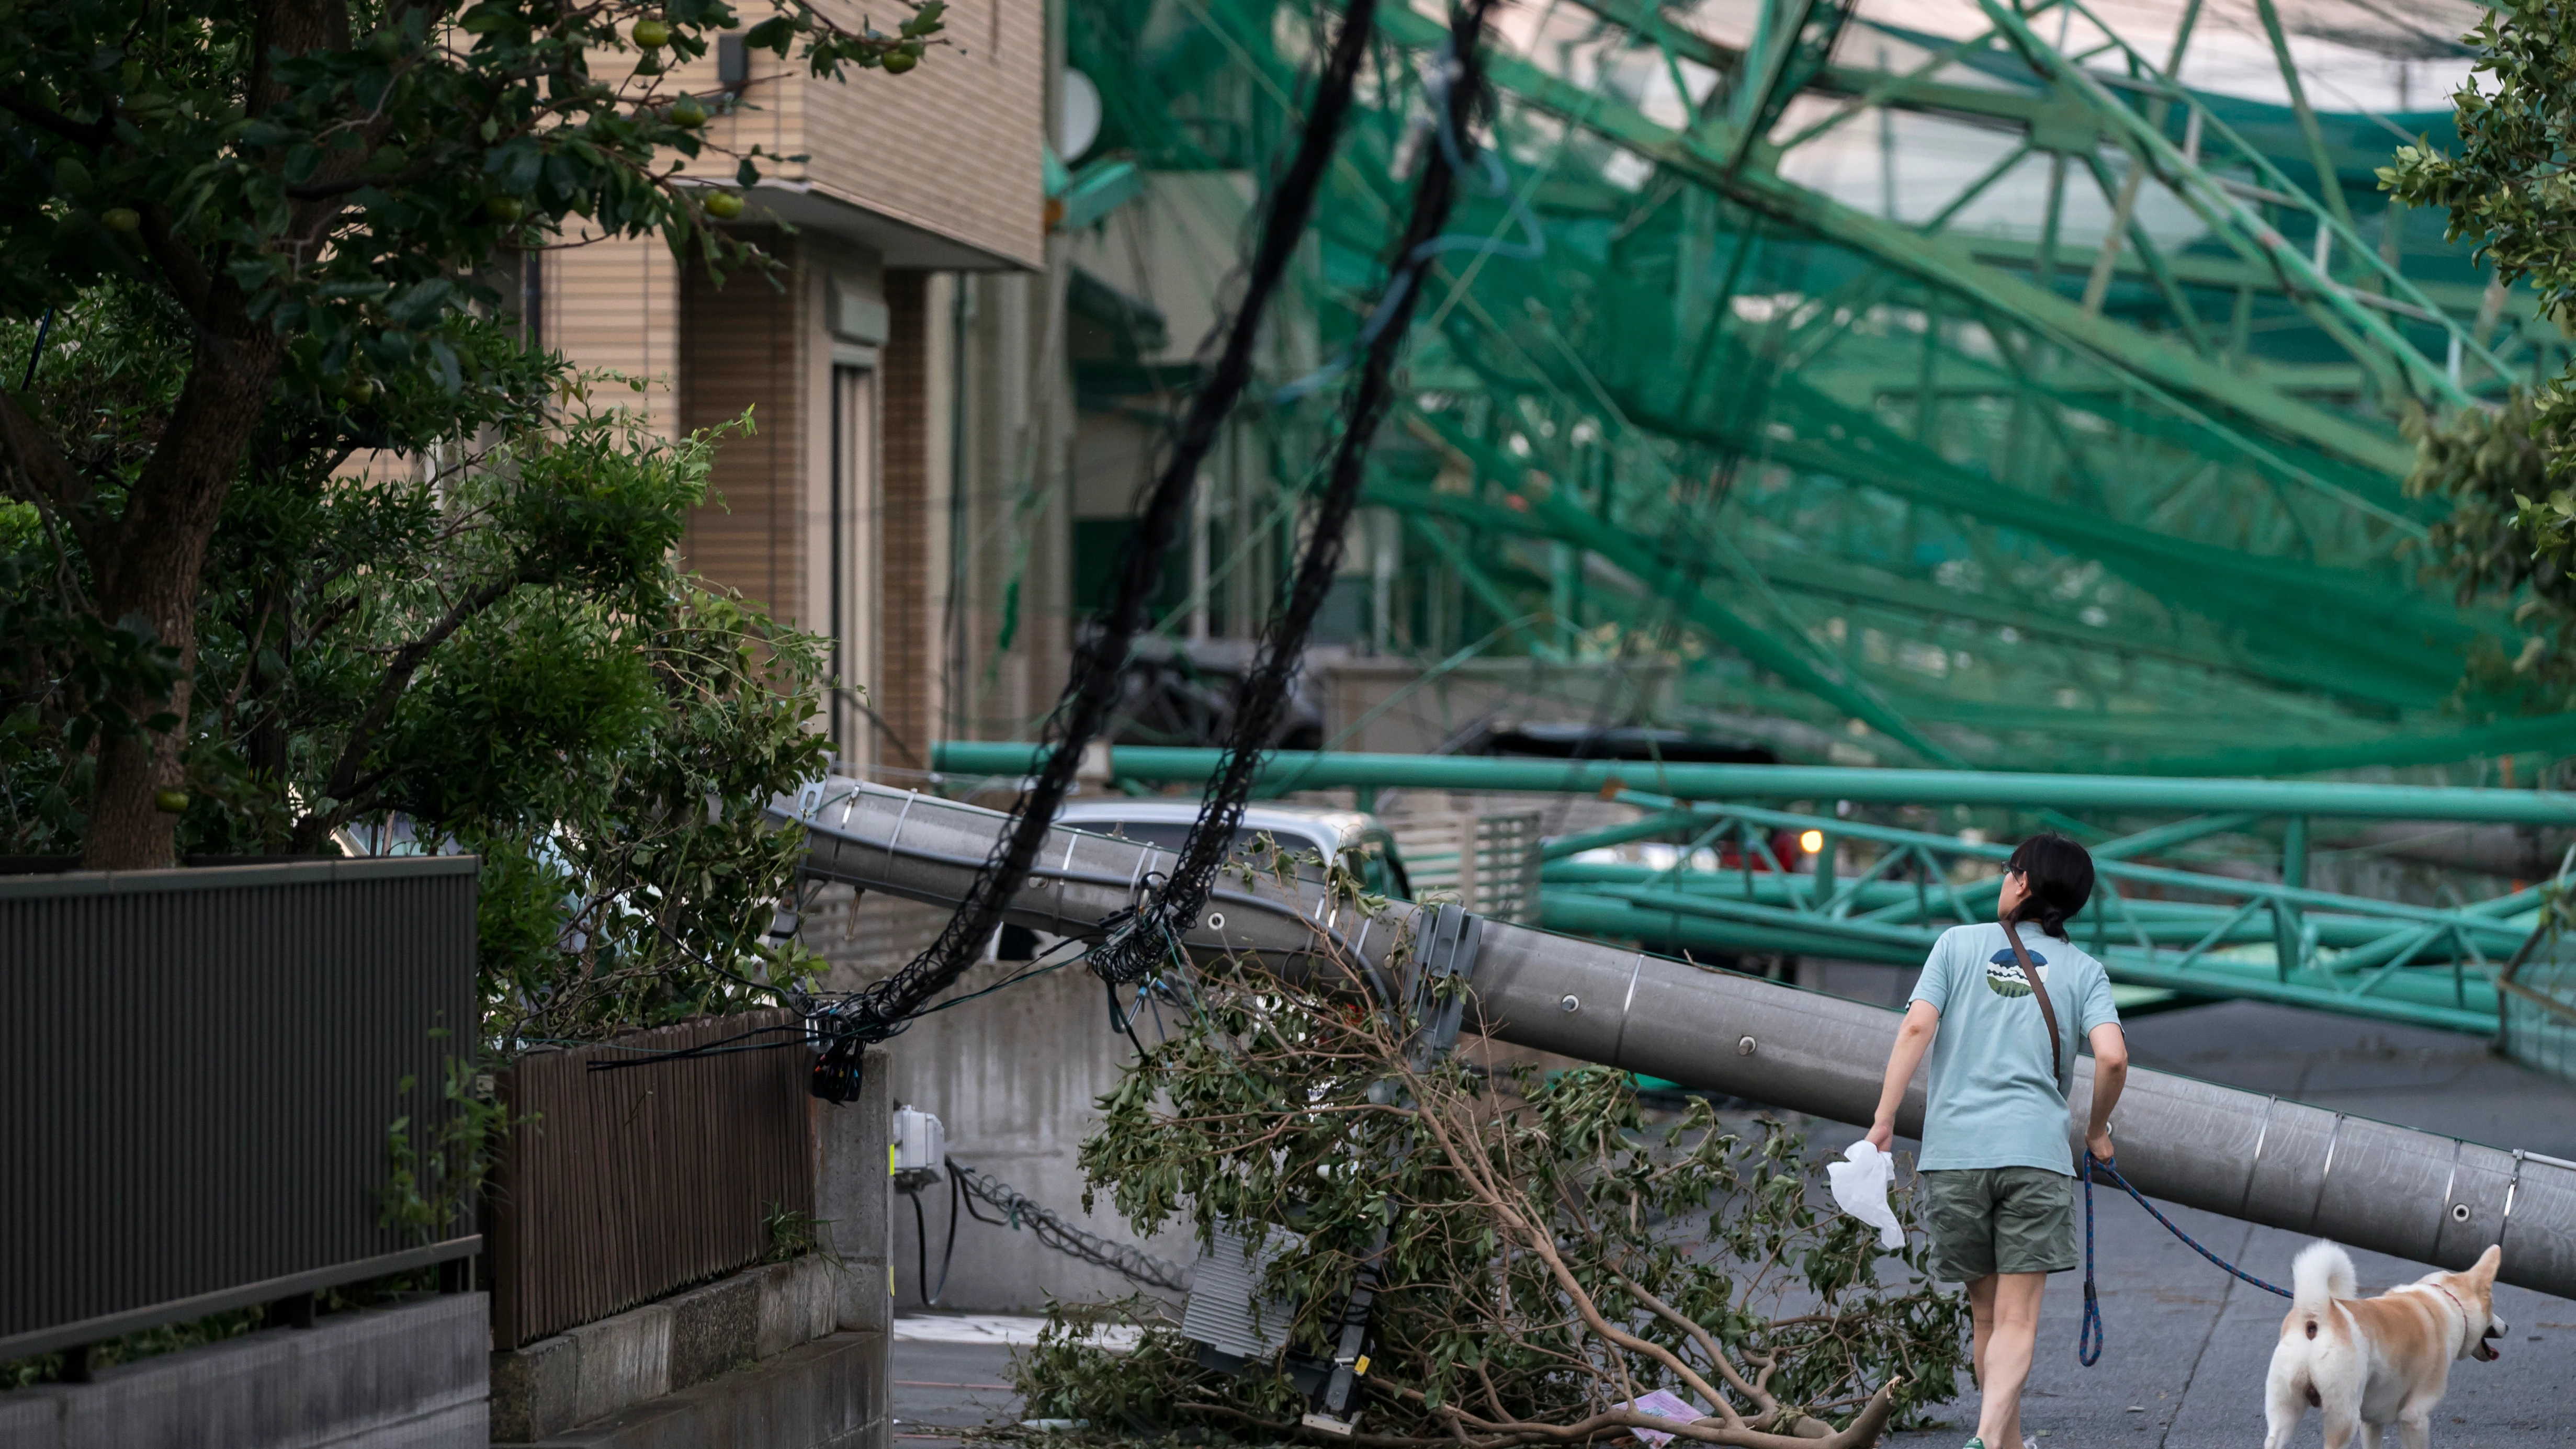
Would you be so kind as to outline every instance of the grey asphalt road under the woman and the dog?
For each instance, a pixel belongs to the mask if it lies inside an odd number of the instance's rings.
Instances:
[[[1834,991],[1891,999],[1901,973],[1837,973]],[[2380,1027],[2259,1004],[2221,1004],[2130,1022],[2141,1066],[2179,1071],[2251,1091],[2277,1091],[2362,1117],[2380,1117],[2491,1143],[2576,1156],[2576,1091],[2494,1058],[2483,1042],[2445,1032]],[[1852,1130],[1819,1125],[1819,1148]],[[2177,1210],[2210,1251],[2254,1277],[2285,1282],[2303,1238],[2231,1217]],[[2354,1253],[2365,1292],[2427,1271]],[[2249,1449],[2262,1444],[2262,1382],[2285,1302],[2246,1287],[2177,1243],[2128,1197],[2097,1194],[2097,1277],[2110,1333],[2102,1361],[2076,1361],[2084,1297],[2076,1274],[2050,1284],[2040,1313],[2025,1426],[2043,1449],[2117,1444],[2138,1449]],[[2537,1449],[2576,1441],[2576,1302],[2504,1287],[2512,1323],[2494,1364],[2455,1364],[2450,1398],[2434,1416],[2442,1449]],[[1002,1343],[896,1341],[896,1436],[914,1449],[956,1441],[979,1423],[1015,1423],[1007,1390],[943,1387],[1007,1382]],[[1899,1449],[1955,1449],[1976,1428],[1968,1385],[1947,1428],[1893,1439]],[[2316,1413],[2300,1446],[2321,1444]]]

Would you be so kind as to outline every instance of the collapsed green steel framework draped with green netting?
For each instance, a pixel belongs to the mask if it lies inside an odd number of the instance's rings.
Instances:
[[[2401,420],[2548,376],[2566,340],[2437,216],[2378,201],[2372,167],[2442,144],[2447,111],[2313,103],[2336,93],[2303,72],[2331,51],[2316,36],[2385,26],[2269,0],[1947,18],[1558,0],[1502,21],[1504,185],[1461,201],[1453,232],[1484,245],[1430,278],[1345,636],[1427,674],[1674,664],[1659,695],[1587,705],[1798,721],[1899,764],[2239,775],[2563,739],[2458,708],[2463,651],[2504,615],[2406,558],[2439,502],[2403,489]],[[2370,44],[2458,59],[2470,18]],[[1105,116],[1066,180],[1092,198],[1090,417],[1149,440],[1195,378],[1190,332],[1327,23],[1072,8]],[[1175,548],[1172,638],[1267,613],[1329,427],[1319,381],[1430,144],[1440,26],[1388,8],[1376,28],[1265,386]],[[2280,100],[2174,80],[2210,57],[2272,62]],[[1878,206],[1834,175],[1855,157]],[[1115,548],[1115,517],[1097,528]]]

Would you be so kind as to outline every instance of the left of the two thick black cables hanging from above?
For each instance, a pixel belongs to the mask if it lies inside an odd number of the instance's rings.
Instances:
[[[1118,679],[1126,672],[1128,649],[1144,628],[1146,605],[1162,587],[1162,558],[1170,553],[1172,538],[1180,533],[1180,520],[1190,510],[1198,468],[1216,445],[1218,425],[1234,412],[1236,399],[1242,399],[1244,386],[1252,381],[1252,355],[1262,337],[1262,314],[1270,309],[1270,299],[1278,293],[1288,263],[1296,257],[1298,239],[1306,234],[1306,219],[1314,214],[1316,190],[1324,183],[1342,121],[1350,113],[1360,62],[1368,57],[1368,41],[1376,33],[1376,10],[1378,0],[1350,0],[1342,13],[1342,33],[1334,39],[1332,57],[1316,80],[1296,160],[1283,172],[1270,198],[1270,211],[1262,219],[1252,268],[1244,275],[1244,301],[1226,329],[1226,345],[1216,358],[1216,368],[1190,399],[1190,412],[1172,438],[1172,456],[1154,481],[1144,512],[1136,517],[1136,538],[1118,569],[1118,589],[1110,605],[1100,610],[1090,636],[1074,649],[1072,679],[1064,685],[1064,695],[1041,731],[1041,739],[1054,744],[1054,749],[1046,754],[1036,785],[1012,803],[1010,821],[994,842],[992,854],[966,888],[966,898],[958,901],[948,927],[930,942],[930,950],[832,1011],[835,1019],[824,1024],[827,1045],[814,1060],[814,1096],[827,1102],[850,1102],[858,1096],[858,1063],[868,1042],[881,1042],[902,1032],[930,999],[948,991],[966,973],[976,947],[999,924],[1010,885],[1025,880],[1028,867],[1036,865],[1056,808],[1074,782],[1082,746],[1100,734],[1110,708],[1118,703]]]

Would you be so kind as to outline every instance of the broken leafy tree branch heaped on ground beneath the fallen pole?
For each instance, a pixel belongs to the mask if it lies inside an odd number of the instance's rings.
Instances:
[[[1721,1122],[1708,1104],[1649,1122],[1618,1071],[1489,1073],[1473,1042],[1417,1066],[1412,1019],[1352,981],[1193,973],[1185,1022],[1103,1096],[1082,1145],[1092,1189],[1139,1233],[1188,1215],[1270,1243],[1252,1292],[1283,1305],[1283,1354],[1229,1377],[1170,1325],[1144,1325],[1126,1354],[1051,1331],[1015,1369],[1033,1413],[1298,1434],[1298,1382],[1352,1361],[1345,1300],[1363,1264],[1358,1444],[1654,1428],[1728,1449],[1870,1449],[1953,1395],[1963,1302],[1880,1284],[1875,1235],[1814,1207],[1821,1166],[1783,1125]],[[1708,1215],[1705,1238],[1682,1241],[1692,1215]],[[1633,1408],[1656,1390],[1705,1418]]]

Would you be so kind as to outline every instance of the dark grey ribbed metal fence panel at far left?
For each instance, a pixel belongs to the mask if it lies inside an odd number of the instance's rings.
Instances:
[[[471,857],[0,878],[0,1359],[471,1253],[381,1192],[474,1037]]]

